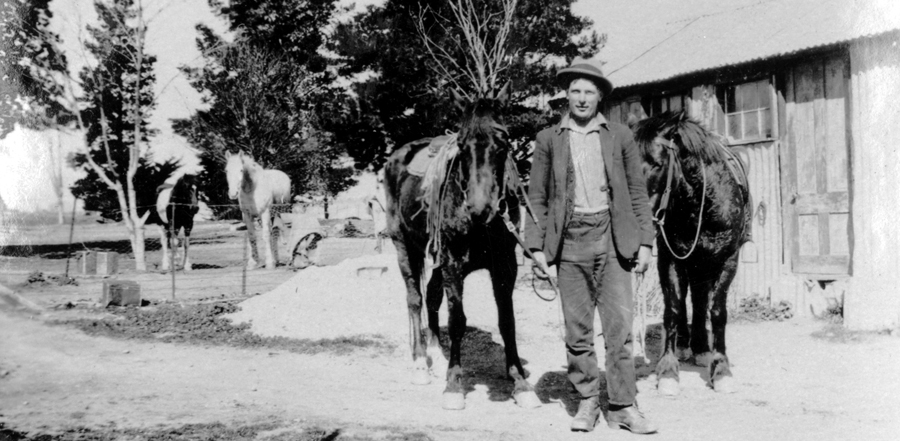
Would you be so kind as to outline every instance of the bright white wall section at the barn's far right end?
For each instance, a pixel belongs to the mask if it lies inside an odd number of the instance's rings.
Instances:
[[[850,51],[853,277],[844,323],[900,326],[900,38]]]

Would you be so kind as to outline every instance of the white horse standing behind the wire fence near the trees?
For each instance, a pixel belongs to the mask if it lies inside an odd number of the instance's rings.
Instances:
[[[256,249],[256,218],[262,222],[262,235],[266,244],[266,269],[273,269],[278,262],[277,245],[272,237],[272,203],[287,203],[291,197],[291,178],[280,170],[266,170],[248,155],[225,153],[225,175],[228,179],[228,197],[237,199],[241,215],[250,237],[250,253],[247,268],[256,268],[259,253]]]

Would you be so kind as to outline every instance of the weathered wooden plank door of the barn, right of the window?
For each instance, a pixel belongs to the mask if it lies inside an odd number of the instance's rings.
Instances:
[[[785,77],[782,204],[791,269],[850,273],[848,61],[800,64]]]

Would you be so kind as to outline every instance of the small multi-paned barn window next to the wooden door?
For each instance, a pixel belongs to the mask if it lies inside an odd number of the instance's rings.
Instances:
[[[716,88],[731,142],[772,138],[772,98],[768,80]]]

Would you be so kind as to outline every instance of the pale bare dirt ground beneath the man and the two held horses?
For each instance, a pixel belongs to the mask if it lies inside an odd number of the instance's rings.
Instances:
[[[272,287],[240,302],[232,298],[241,310],[228,317],[257,335],[383,342],[349,351],[91,336],[51,322],[108,318],[108,311],[59,308],[78,298],[66,287],[14,287],[17,298],[33,307],[0,302],[0,439],[637,436],[602,422],[592,434],[569,432],[577,404],[566,383],[559,307],[524,284],[515,294],[519,351],[543,406],[524,410],[514,404],[484,273],[466,281],[466,408],[442,410],[440,379],[428,386],[410,383],[405,293],[392,259],[370,256],[297,273],[259,270],[253,277]],[[388,268],[380,276],[359,272],[380,265]],[[194,273],[202,278],[214,270]],[[182,303],[210,301],[209,293],[198,292]],[[658,326],[651,327],[651,336],[658,333]],[[733,323],[728,347],[737,391],[717,394],[707,387],[704,369],[682,364],[683,390],[676,398],[658,395],[648,375],[659,343],[648,341],[650,366],[640,370],[638,383],[640,407],[660,427],[650,439],[888,440],[900,431],[896,336],[851,333],[803,318]]]

